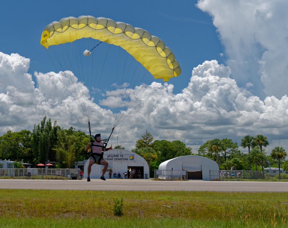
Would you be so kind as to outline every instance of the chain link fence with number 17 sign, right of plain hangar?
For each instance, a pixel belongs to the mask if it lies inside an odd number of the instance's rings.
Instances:
[[[271,172],[255,170],[210,170],[210,180],[215,181],[244,181],[244,180],[270,180],[278,179]],[[284,176],[283,176],[284,177]],[[282,178],[281,178],[282,179]],[[287,179],[287,178],[286,178]]]

